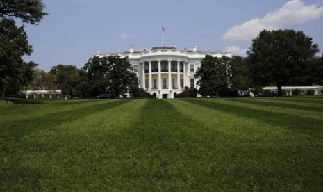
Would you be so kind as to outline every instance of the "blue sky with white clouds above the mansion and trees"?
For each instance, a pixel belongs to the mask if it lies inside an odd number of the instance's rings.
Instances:
[[[38,68],[81,68],[97,51],[162,45],[246,56],[263,29],[303,31],[323,52],[323,0],[42,0],[49,13],[26,25]]]

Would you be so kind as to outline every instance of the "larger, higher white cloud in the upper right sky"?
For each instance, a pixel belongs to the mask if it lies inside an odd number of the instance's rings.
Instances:
[[[233,26],[222,36],[224,40],[251,40],[263,29],[281,29],[290,24],[310,22],[323,15],[323,6],[306,6],[301,0],[292,0],[279,9],[272,10],[263,18],[251,19]]]

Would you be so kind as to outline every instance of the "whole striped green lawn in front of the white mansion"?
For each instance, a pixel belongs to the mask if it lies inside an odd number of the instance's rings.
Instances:
[[[0,191],[323,191],[323,97],[14,102]]]

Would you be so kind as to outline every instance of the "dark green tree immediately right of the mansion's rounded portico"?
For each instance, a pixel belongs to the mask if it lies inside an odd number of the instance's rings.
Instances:
[[[229,61],[230,58],[226,56],[217,58],[210,55],[201,60],[201,67],[194,75],[199,79],[199,94],[214,97],[227,92],[230,81]]]

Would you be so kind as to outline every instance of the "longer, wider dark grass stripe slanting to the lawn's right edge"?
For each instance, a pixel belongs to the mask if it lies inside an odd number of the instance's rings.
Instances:
[[[265,109],[250,109],[249,107],[234,106],[232,104],[223,104],[226,100],[221,99],[183,99],[185,102],[204,106],[209,109],[231,113],[242,118],[251,118],[267,125],[283,126],[288,129],[299,131],[303,134],[320,137],[323,134],[323,120],[313,118],[302,118],[292,114],[265,111]]]

